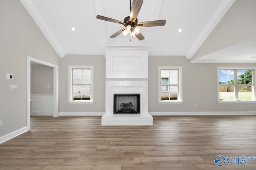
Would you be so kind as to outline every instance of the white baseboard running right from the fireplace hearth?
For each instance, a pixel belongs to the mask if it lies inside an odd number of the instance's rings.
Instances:
[[[148,112],[152,116],[163,115],[256,115],[256,111],[188,111],[188,112]]]

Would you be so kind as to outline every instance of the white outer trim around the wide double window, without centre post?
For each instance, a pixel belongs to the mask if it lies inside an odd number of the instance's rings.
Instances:
[[[256,74],[256,67],[251,67],[251,66],[218,66],[217,67],[217,103],[218,104],[256,104],[256,84],[254,84],[254,89],[253,89],[253,93],[254,93],[254,100],[240,100],[240,101],[220,101],[220,82],[219,82],[219,79],[220,79],[220,70],[254,70],[254,83],[256,82],[255,78],[255,74]],[[236,76],[236,75],[235,75]]]

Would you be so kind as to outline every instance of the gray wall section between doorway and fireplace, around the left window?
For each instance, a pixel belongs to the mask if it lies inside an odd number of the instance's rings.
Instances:
[[[94,104],[68,104],[68,65],[94,66]],[[105,57],[66,55],[60,59],[60,112],[105,112]]]

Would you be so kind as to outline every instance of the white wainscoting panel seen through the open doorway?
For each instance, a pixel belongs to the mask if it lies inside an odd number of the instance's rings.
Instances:
[[[53,115],[53,95],[32,94],[30,115]]]

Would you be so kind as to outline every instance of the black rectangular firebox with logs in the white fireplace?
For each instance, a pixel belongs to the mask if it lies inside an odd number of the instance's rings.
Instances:
[[[114,94],[114,114],[140,113],[140,94]]]

